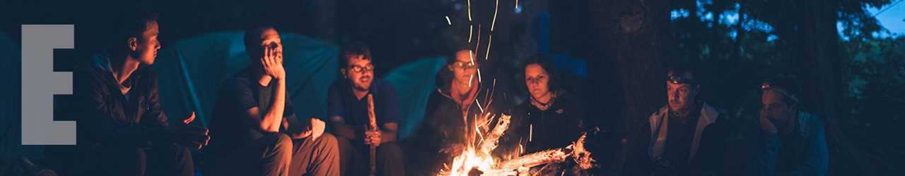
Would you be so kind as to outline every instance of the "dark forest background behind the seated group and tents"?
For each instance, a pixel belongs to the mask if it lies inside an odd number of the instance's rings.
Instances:
[[[75,50],[55,51],[54,68],[71,71],[110,43],[119,14],[160,13],[167,42],[260,23],[330,43],[364,41],[381,75],[419,58],[445,56],[468,37],[466,23],[490,32],[490,67],[502,89],[525,95],[520,61],[554,56],[563,86],[586,97],[589,121],[607,140],[633,139],[633,128],[666,103],[665,69],[691,64],[704,76],[704,99],[739,119],[759,108],[759,81],[782,74],[801,83],[805,109],[820,116],[835,175],[899,174],[905,166],[905,37],[885,30],[868,8],[895,0],[0,0],[0,34],[20,43],[21,24],[75,24]],[[447,23],[445,16],[449,16]],[[905,16],[901,17],[905,20]],[[479,30],[480,31],[480,30]],[[18,54],[18,51],[9,52]],[[0,63],[3,80],[19,81],[19,59]],[[4,106],[18,87],[3,89]],[[517,96],[516,96],[517,97]],[[13,108],[17,109],[17,108]],[[18,118],[3,112],[0,120]],[[755,121],[756,122],[756,121]],[[14,124],[15,125],[15,124]],[[6,126],[2,129],[9,129]],[[17,133],[0,131],[4,137]],[[629,140],[631,141],[631,140]],[[618,170],[613,152],[606,168]],[[37,146],[6,147],[12,157],[42,156]],[[610,152],[607,152],[610,153]],[[0,162],[2,163],[2,162]]]

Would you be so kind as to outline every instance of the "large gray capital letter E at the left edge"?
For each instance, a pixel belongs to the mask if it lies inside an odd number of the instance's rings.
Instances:
[[[72,73],[53,72],[53,49],[72,49],[73,25],[22,25],[22,144],[75,144],[75,121],[53,121],[53,95]]]

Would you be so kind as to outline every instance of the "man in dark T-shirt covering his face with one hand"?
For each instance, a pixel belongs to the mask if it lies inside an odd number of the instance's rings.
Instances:
[[[337,140],[323,119],[292,110],[280,34],[257,27],[244,42],[252,64],[217,92],[205,174],[339,175]]]

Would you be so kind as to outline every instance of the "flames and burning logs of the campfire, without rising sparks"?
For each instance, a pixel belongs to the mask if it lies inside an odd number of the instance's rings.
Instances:
[[[576,167],[582,170],[591,169],[594,166],[594,159],[591,153],[585,149],[585,138],[587,133],[572,144],[565,147],[541,151],[538,153],[521,154],[519,156],[506,161],[494,161],[491,152],[497,148],[500,137],[504,135],[506,129],[509,128],[511,116],[501,115],[496,125],[490,129],[490,124],[494,116],[490,113],[484,114],[476,121],[471,131],[472,134],[466,134],[465,149],[458,156],[453,158],[452,163],[446,165],[438,176],[458,176],[458,175],[528,175],[528,171],[532,167],[540,166],[547,163],[567,162],[572,159],[576,162]],[[521,148],[519,146],[519,148]]]

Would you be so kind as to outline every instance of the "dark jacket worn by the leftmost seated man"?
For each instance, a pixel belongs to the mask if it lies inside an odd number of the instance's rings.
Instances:
[[[123,82],[130,88],[128,96],[119,91],[109,57],[96,58],[74,75],[73,93],[80,107],[77,117],[80,145],[172,144],[153,69],[142,65]]]

